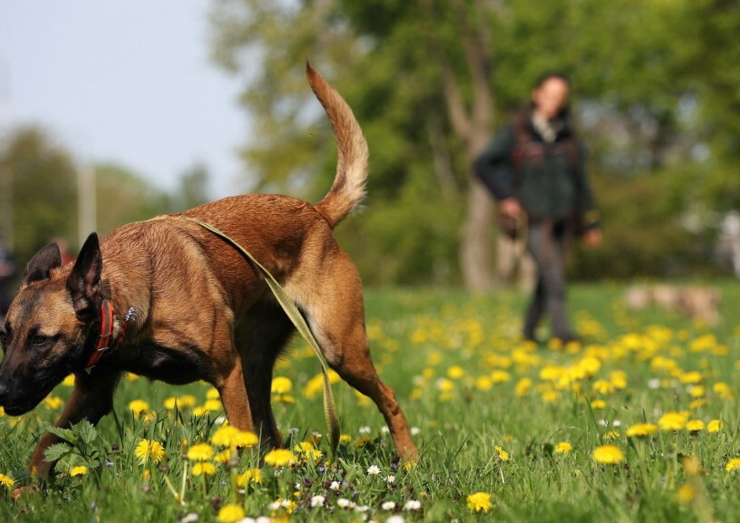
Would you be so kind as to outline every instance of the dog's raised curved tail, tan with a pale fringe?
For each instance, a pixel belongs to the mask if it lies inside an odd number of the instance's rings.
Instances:
[[[365,198],[368,144],[347,102],[308,62],[306,78],[326,110],[337,140],[337,175],[332,189],[314,205],[333,229]]]

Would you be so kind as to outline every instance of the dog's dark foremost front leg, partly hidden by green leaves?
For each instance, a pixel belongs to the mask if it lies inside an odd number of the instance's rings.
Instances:
[[[104,371],[99,368],[93,369],[90,374],[75,374],[75,388],[56,426],[67,428],[83,419],[92,424],[97,423],[113,406],[113,391],[119,377],[121,373],[118,371]],[[41,438],[31,455],[31,473],[37,473],[41,479],[48,478],[56,462],[45,461],[44,451],[57,442],[59,438],[52,433]]]

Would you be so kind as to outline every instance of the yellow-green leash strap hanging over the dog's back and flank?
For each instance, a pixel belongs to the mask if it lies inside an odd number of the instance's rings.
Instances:
[[[326,358],[324,358],[323,353],[321,352],[321,348],[319,347],[316,338],[311,332],[309,325],[306,324],[306,320],[303,319],[303,316],[300,314],[300,311],[298,311],[298,308],[295,306],[295,303],[293,303],[293,300],[291,300],[288,294],[286,294],[285,289],[280,286],[280,283],[277,283],[275,277],[273,277],[272,274],[270,274],[270,272],[265,269],[261,263],[255,260],[252,254],[249,254],[249,251],[240,246],[239,243],[237,243],[235,240],[232,240],[232,238],[230,238],[228,235],[216,229],[210,223],[203,222],[201,220],[198,220],[198,218],[193,217],[187,217],[187,219],[198,223],[198,225],[204,227],[205,229],[208,229],[216,236],[221,237],[223,238],[223,240],[231,243],[232,246],[235,246],[237,249],[239,249],[242,254],[244,254],[246,257],[249,258],[249,260],[252,260],[252,262],[255,263],[256,266],[258,266],[260,271],[262,271],[262,274],[264,274],[265,281],[272,291],[272,294],[275,294],[275,299],[277,299],[277,303],[280,303],[280,307],[283,308],[285,314],[288,315],[293,325],[295,325],[295,328],[303,337],[303,340],[306,340],[306,343],[309,344],[309,347],[311,347],[314,351],[314,354],[316,354],[316,357],[321,364],[321,374],[323,374],[323,400],[324,416],[326,417],[326,428],[329,430],[329,438],[332,442],[332,452],[336,451],[337,445],[339,445],[340,436],[339,416],[337,416],[337,405],[334,403],[332,384],[331,382],[329,382],[329,365],[326,363]]]

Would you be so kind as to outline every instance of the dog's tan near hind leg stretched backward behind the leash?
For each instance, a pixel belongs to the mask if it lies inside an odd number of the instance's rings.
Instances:
[[[292,280],[286,290],[306,315],[327,362],[349,385],[375,402],[400,456],[417,459],[406,416],[393,389],[380,381],[370,357],[362,284],[354,263],[337,248],[315,274],[304,278],[300,283]]]

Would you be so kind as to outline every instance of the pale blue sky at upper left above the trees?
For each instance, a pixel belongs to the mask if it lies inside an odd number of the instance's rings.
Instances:
[[[40,124],[82,161],[163,189],[196,162],[246,190],[238,79],[209,61],[209,0],[0,0],[0,126]]]

